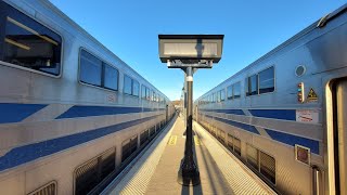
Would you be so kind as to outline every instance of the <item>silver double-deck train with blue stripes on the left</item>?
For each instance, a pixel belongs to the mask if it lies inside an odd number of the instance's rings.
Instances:
[[[0,20],[0,194],[98,193],[174,106],[49,1]]]

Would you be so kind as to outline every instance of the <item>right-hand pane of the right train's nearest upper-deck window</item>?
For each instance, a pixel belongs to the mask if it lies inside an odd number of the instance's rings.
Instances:
[[[274,68],[273,66],[259,73],[259,93],[274,91]]]

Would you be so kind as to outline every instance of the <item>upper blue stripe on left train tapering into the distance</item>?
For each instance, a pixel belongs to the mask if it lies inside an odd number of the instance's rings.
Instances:
[[[89,116],[117,115],[129,113],[144,113],[153,110],[163,110],[163,108],[142,108],[142,107],[111,107],[111,106],[73,106],[56,119],[76,118]]]

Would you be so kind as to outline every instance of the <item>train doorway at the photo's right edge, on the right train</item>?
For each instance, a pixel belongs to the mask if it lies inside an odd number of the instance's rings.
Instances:
[[[333,87],[334,169],[336,194],[347,195],[347,78]]]

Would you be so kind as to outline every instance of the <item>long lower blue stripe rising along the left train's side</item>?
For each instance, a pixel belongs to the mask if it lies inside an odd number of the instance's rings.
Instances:
[[[157,115],[158,116],[158,115]],[[30,145],[20,146],[11,150],[4,156],[0,157],[0,171],[20,166],[22,164],[35,160],[37,158],[57,153],[60,151],[73,147],[75,145],[82,144],[85,142],[114,133],[121,129],[126,129],[132,126],[137,126],[146,120],[151,120],[157,116],[146,117],[142,119],[137,119],[132,121],[127,121],[110,127],[104,127],[87,132],[80,132],[63,138],[57,138],[53,140],[48,140]]]

